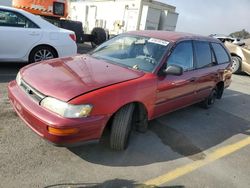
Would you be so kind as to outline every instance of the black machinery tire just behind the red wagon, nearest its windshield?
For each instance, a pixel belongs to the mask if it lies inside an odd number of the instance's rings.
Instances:
[[[95,27],[92,30],[91,35],[93,36],[93,41],[91,42],[93,48],[107,40],[107,34],[105,30],[101,27]]]

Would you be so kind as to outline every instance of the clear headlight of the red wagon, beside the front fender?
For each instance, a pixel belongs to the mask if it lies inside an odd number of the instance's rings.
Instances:
[[[41,106],[66,118],[88,117],[93,108],[90,104],[72,105],[52,97],[44,98]]]

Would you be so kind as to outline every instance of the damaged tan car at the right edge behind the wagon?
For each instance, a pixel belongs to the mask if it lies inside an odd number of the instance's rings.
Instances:
[[[250,75],[250,50],[226,42],[225,46],[232,56],[232,71],[233,73],[245,72]]]

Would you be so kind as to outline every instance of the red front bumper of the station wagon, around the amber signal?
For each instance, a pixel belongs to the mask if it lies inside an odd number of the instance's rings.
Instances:
[[[39,136],[58,146],[100,139],[109,119],[109,116],[105,115],[78,119],[63,118],[41,107],[17,85],[16,81],[9,83],[8,96],[19,117]],[[51,134],[48,127],[64,130],[76,128],[79,131],[72,135],[58,136]]]

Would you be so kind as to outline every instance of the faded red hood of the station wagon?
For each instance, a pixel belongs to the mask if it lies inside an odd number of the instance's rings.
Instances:
[[[62,101],[132,80],[144,73],[98,60],[89,55],[53,59],[21,70],[22,79],[46,96]]]

